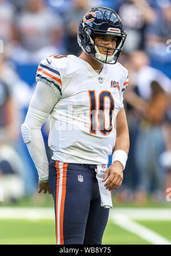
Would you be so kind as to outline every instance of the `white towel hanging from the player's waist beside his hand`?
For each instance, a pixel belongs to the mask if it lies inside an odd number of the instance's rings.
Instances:
[[[102,182],[104,173],[107,170],[108,165],[107,164],[100,164],[97,165],[96,171],[96,179],[99,184],[99,191],[100,191],[100,198],[101,198],[101,206],[104,208],[112,208],[112,197],[111,197],[111,192],[108,189],[105,189],[105,182]]]

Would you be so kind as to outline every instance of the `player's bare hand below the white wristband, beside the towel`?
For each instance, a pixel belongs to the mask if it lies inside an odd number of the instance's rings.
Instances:
[[[109,191],[116,190],[120,187],[123,182],[123,165],[121,165],[119,161],[113,162],[113,164],[105,171],[102,182],[106,180],[107,182],[104,186]]]

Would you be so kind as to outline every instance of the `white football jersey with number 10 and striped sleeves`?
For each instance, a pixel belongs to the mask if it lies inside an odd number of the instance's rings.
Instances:
[[[123,107],[128,71],[104,64],[100,75],[74,55],[53,55],[40,62],[36,82],[58,96],[50,113],[48,145],[52,159],[77,164],[108,164],[116,141],[114,127]]]

